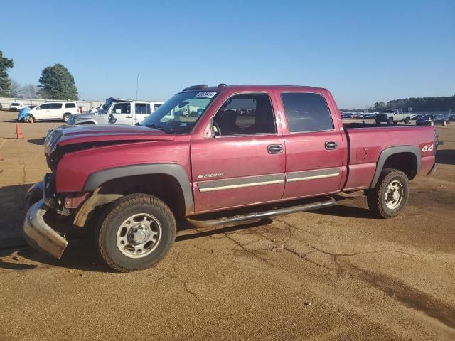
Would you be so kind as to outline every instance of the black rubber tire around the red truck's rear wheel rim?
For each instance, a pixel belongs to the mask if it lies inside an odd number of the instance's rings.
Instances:
[[[397,207],[390,208],[387,206],[385,195],[389,185],[397,181],[402,185],[402,194],[397,202]],[[396,217],[405,207],[410,197],[410,183],[406,174],[397,169],[385,168],[376,183],[375,188],[367,191],[368,208],[374,215],[380,218],[388,219]]]

